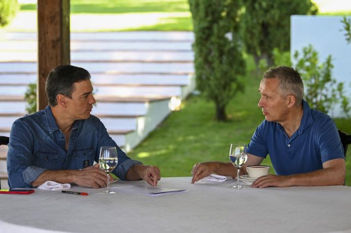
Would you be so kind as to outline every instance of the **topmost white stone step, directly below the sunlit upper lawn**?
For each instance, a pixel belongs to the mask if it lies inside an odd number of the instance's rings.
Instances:
[[[3,40],[37,40],[36,32],[6,32]],[[190,31],[115,31],[115,32],[71,32],[71,40],[98,41],[194,41]]]

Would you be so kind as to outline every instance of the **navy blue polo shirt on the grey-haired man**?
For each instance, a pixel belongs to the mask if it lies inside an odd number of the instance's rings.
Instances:
[[[267,120],[257,127],[247,152],[259,157],[270,155],[277,175],[308,173],[323,169],[328,160],[343,158],[343,148],[334,121],[325,113],[310,109],[303,101],[298,130],[289,138],[277,122]]]

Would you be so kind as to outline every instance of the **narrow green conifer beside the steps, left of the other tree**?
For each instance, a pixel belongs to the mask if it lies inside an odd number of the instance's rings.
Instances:
[[[245,62],[239,35],[241,1],[189,0],[195,42],[197,88],[216,105],[216,118],[226,120],[225,108],[238,90]]]

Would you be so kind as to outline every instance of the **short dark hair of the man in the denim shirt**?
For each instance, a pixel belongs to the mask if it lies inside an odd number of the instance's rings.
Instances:
[[[72,98],[74,83],[88,80],[91,76],[87,70],[73,65],[58,65],[46,78],[45,91],[50,106],[56,106],[56,96],[63,94]]]

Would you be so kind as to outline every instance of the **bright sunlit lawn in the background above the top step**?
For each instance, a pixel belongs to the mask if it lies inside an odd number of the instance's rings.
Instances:
[[[346,1],[346,0],[345,0]],[[321,15],[351,15],[351,6]],[[71,0],[71,31],[184,30],[193,28],[187,0]],[[22,4],[7,31],[36,31],[37,5]]]

